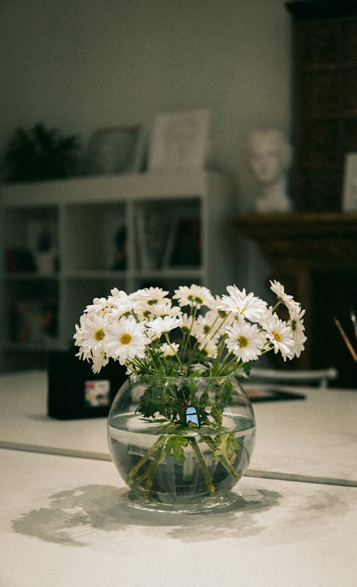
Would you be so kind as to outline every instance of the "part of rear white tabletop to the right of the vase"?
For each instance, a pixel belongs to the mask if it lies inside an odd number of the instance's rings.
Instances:
[[[357,390],[299,391],[306,399],[253,403],[250,469],[357,486]]]

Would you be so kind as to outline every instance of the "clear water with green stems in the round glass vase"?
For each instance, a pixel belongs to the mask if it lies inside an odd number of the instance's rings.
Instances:
[[[174,434],[164,430],[134,413],[109,422],[116,468],[136,494],[148,500],[189,504],[205,496],[217,498],[230,491],[248,467],[255,439],[250,418],[223,414],[220,433],[213,428]]]

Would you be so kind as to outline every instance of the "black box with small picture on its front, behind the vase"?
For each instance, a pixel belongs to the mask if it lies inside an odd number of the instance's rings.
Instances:
[[[78,349],[50,351],[47,369],[47,413],[58,420],[105,417],[126,380],[126,367],[111,361],[94,374]]]

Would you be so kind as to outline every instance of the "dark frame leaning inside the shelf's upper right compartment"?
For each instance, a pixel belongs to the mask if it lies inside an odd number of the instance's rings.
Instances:
[[[201,219],[197,214],[177,214],[164,253],[163,268],[201,265]]]

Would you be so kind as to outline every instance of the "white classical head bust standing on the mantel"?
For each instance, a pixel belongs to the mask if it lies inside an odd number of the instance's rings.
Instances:
[[[258,212],[291,211],[287,194],[287,171],[291,146],[278,129],[256,129],[248,136],[251,169],[260,187],[255,201]]]

